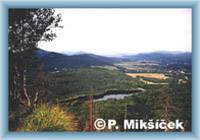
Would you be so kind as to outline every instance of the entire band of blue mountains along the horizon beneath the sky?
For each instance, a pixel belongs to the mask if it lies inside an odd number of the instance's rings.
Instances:
[[[116,62],[127,61],[157,61],[161,64],[191,65],[192,53],[189,52],[152,52],[137,55],[124,55],[122,57],[105,57],[90,53],[65,55],[37,49],[35,55],[48,70],[63,68],[80,68],[91,66],[112,66]]]

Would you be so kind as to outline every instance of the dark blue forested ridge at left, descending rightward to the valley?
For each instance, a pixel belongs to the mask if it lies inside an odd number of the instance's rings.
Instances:
[[[55,52],[47,52],[41,49],[35,51],[35,55],[47,69],[54,68],[80,68],[90,66],[112,65],[118,58],[103,57],[94,54],[65,55]]]

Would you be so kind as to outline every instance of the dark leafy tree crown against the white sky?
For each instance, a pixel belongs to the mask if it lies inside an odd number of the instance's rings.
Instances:
[[[56,34],[52,28],[60,27],[61,15],[52,8],[9,9],[9,50],[23,52],[37,47],[38,41],[50,41]]]

